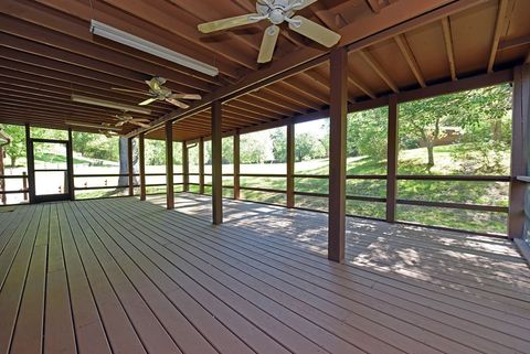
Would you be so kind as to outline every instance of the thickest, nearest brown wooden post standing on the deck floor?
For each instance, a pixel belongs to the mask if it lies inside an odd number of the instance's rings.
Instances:
[[[346,129],[348,53],[330,55],[328,258],[341,262],[346,247]]]

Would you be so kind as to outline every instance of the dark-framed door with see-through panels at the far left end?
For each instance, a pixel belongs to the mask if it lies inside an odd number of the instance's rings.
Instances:
[[[33,150],[34,142],[43,143],[62,143],[66,146],[66,170],[61,170],[66,172],[67,185],[64,193],[62,194],[45,194],[36,195],[35,194],[35,157]],[[54,140],[54,139],[38,139],[31,138],[28,143],[28,178],[29,178],[29,192],[30,192],[30,202],[31,203],[43,203],[43,202],[59,202],[59,201],[71,201],[73,200],[73,155],[72,155],[72,140]],[[52,171],[52,170],[51,170]]]

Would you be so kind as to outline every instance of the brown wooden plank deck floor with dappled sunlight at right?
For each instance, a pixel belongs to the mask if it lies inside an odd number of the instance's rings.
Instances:
[[[530,353],[506,240],[350,219],[337,265],[322,214],[159,202],[0,213],[0,354]]]

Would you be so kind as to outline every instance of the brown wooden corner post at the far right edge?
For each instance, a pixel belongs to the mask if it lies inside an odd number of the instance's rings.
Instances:
[[[522,238],[524,230],[524,192],[526,184],[517,180],[527,175],[524,128],[530,122],[530,65],[518,66],[513,72],[513,109],[511,136],[511,182],[508,214],[508,236]],[[527,151],[528,153],[528,151]]]

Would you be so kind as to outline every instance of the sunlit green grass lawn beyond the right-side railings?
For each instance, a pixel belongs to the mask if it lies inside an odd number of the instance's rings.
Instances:
[[[427,171],[425,149],[405,150],[400,153],[400,174],[462,174],[462,161],[455,161],[453,150],[463,148],[445,146],[435,148],[435,165]],[[464,147],[473,149],[473,147]],[[509,152],[506,158],[506,171],[509,165]],[[244,167],[242,167],[243,170]],[[385,174],[385,160],[368,157],[348,159],[348,174]],[[257,170],[257,167],[252,169]],[[274,165],[263,165],[262,173],[285,173]],[[296,165],[297,174],[328,174],[328,160],[304,161]],[[506,172],[507,174],[508,172]],[[232,185],[232,179],[225,179],[224,185]],[[241,178],[242,186],[266,187],[285,191],[283,178]],[[327,179],[297,178],[295,189],[298,192],[327,193]],[[348,180],[348,195],[385,197],[384,180]],[[224,193],[230,196],[230,192]],[[453,202],[480,205],[508,205],[508,183],[505,182],[459,182],[459,181],[399,181],[398,197],[401,200],[418,200],[432,202]],[[255,191],[242,191],[242,199],[274,204],[285,204],[285,194]],[[327,199],[297,196],[296,206],[305,208],[327,210]],[[385,205],[380,202],[348,201],[347,212],[351,215],[384,218]],[[476,232],[506,234],[507,215],[502,213],[462,211],[442,207],[399,205],[400,221],[421,223],[433,226],[446,226]]]

